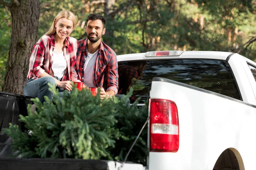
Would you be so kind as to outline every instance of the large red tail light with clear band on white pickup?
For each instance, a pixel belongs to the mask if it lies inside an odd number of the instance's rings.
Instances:
[[[149,130],[151,152],[177,152],[180,140],[175,102],[151,99]]]

